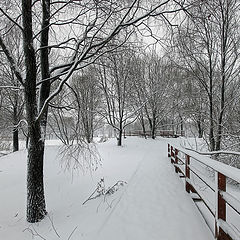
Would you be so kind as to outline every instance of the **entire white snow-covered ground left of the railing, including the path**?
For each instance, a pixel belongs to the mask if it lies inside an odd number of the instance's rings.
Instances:
[[[65,171],[55,144],[45,157],[49,214],[38,224],[25,221],[26,151],[0,158],[0,239],[214,239],[169,163],[165,139],[97,144],[102,166],[91,174]],[[101,178],[128,184],[82,205]]]

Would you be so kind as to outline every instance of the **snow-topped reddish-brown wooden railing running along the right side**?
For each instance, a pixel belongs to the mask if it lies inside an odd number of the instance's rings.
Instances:
[[[240,240],[240,229],[236,229],[229,223],[226,214],[228,205],[240,217],[240,199],[232,196],[226,188],[226,178],[232,179],[238,184],[240,183],[240,170],[172,144],[168,144],[168,157],[171,158],[176,173],[181,178],[185,178],[186,191],[193,193],[193,199],[195,195],[194,200],[202,201],[214,217],[215,229],[213,233],[215,238],[217,240]],[[215,180],[212,181],[205,174],[202,174],[198,169],[198,164],[211,169],[214,172]],[[214,193],[214,204],[198,189],[193,178],[197,178],[209,191]]]

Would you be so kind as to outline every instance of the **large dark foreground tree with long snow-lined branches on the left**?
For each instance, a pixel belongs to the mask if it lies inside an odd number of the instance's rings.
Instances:
[[[1,2],[1,19],[9,19],[11,26],[1,28],[0,46],[25,95],[29,136],[27,221],[40,221],[46,214],[43,156],[49,103],[75,70],[111,51],[106,45],[123,29],[129,28],[127,38],[149,16],[166,21],[165,14],[182,11],[184,7],[172,0],[146,3],[140,0]],[[24,74],[19,71],[5,39],[13,28],[20,29],[23,39]],[[50,66],[51,51],[61,53],[61,57],[56,65]],[[57,87],[51,91],[53,82]]]

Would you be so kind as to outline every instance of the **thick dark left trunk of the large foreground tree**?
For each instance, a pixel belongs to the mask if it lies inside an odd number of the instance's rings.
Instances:
[[[28,123],[28,164],[27,164],[27,221],[40,221],[46,214],[43,184],[44,142],[39,121],[36,121],[37,66],[33,47],[32,1],[22,0],[23,48],[26,66],[25,107]]]

